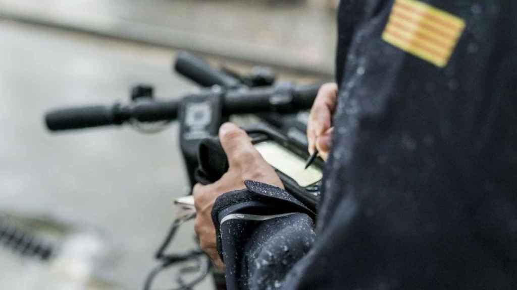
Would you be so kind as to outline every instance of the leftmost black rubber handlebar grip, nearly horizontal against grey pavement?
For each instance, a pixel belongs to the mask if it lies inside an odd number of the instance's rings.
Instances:
[[[50,131],[73,130],[115,124],[113,107],[88,106],[56,109],[45,114]]]

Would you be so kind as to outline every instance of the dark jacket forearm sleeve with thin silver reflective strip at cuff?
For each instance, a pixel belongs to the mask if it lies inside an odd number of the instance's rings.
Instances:
[[[282,286],[314,242],[314,213],[283,189],[246,181],[212,211],[228,289]]]

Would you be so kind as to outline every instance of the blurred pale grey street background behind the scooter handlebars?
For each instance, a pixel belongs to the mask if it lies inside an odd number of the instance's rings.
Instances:
[[[0,0],[0,288],[142,288],[173,200],[188,192],[176,124],[55,134],[45,111],[125,102],[136,84],[161,98],[196,91],[171,69],[179,50],[237,71],[329,80],[337,2]],[[194,247],[192,228],[171,251]],[[26,243],[14,247],[17,238]]]

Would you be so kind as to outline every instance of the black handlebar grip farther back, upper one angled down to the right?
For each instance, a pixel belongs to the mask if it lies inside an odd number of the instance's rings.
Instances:
[[[178,53],[174,69],[203,87],[219,85],[234,88],[240,84],[238,79],[211,68],[203,59],[188,52]]]

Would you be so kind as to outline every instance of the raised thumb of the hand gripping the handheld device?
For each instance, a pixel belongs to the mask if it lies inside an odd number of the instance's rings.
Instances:
[[[219,128],[219,139],[230,167],[246,167],[261,158],[248,134],[233,123],[224,123]]]

